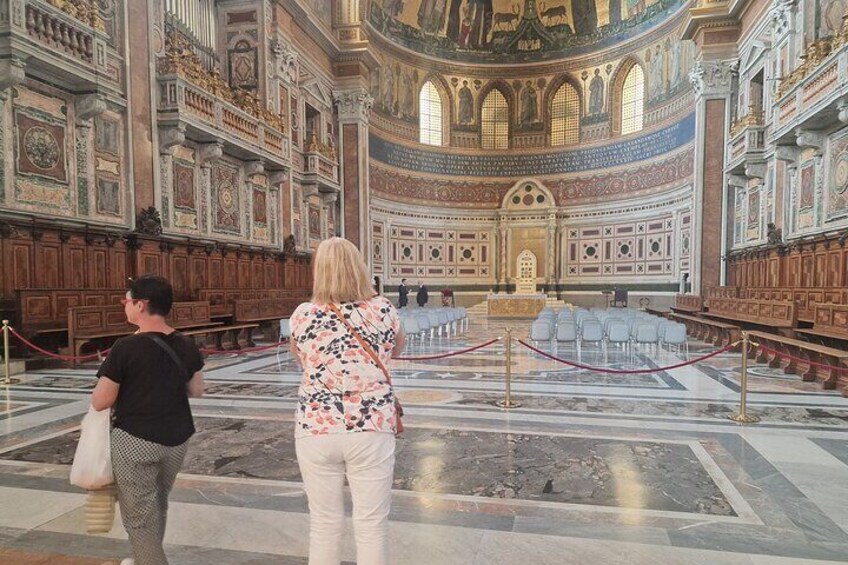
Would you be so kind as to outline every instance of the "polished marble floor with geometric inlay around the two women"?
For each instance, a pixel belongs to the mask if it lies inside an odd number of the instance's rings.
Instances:
[[[529,322],[514,323],[518,337]],[[504,322],[412,344],[481,343]],[[392,509],[394,562],[458,564],[848,563],[848,399],[754,364],[739,426],[741,358],[662,370],[685,354],[543,347],[636,375],[573,369],[504,344],[395,362],[407,410]],[[689,357],[712,350],[690,344]],[[84,531],[68,484],[95,367],[38,371],[0,400],[0,565],[115,564],[119,525]],[[172,565],[305,564],[308,515],[294,459],[299,375],[286,351],[210,359],[198,434],[175,491]],[[352,540],[346,559],[353,562]]]

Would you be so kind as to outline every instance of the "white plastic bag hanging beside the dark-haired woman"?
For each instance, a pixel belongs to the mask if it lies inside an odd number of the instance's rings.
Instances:
[[[109,431],[112,427],[110,409],[97,411],[89,407],[82,419],[80,441],[71,466],[71,484],[87,490],[97,490],[115,482],[112,476],[112,451]]]

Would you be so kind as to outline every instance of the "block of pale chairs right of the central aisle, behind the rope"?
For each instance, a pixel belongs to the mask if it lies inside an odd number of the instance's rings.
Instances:
[[[563,309],[558,313],[543,310],[530,326],[530,339],[535,342],[586,342],[621,346],[633,345],[675,347],[689,353],[686,326],[664,318],[628,308]]]

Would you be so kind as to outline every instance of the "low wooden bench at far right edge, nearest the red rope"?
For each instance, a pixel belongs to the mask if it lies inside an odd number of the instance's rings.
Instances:
[[[788,355],[803,360],[787,359],[776,353],[760,349],[757,354],[757,361],[768,363],[768,366],[772,368],[783,369],[784,373],[801,375],[801,378],[805,381],[820,381],[826,389],[841,386],[842,395],[848,396],[848,374],[846,374],[846,371],[834,371],[815,365],[819,363],[832,367],[842,367],[848,363],[848,351],[766,332],[752,331],[748,332],[748,335],[755,342],[759,342],[770,349],[787,350]]]

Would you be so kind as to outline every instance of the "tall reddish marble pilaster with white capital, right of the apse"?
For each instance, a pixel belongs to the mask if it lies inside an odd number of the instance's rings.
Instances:
[[[724,153],[729,128],[731,96],[736,80],[735,61],[699,61],[689,79],[695,90],[695,173],[692,209],[692,292],[724,282],[728,210],[724,180]]]

